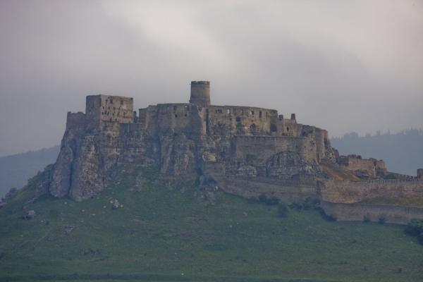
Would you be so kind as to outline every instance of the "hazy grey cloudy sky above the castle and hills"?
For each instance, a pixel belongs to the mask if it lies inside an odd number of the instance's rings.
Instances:
[[[0,0],[0,155],[59,144],[87,94],[190,80],[331,135],[423,128],[423,1]]]

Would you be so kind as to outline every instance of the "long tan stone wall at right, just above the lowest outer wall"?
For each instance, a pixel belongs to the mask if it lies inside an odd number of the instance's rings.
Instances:
[[[423,180],[326,180],[320,189],[321,200],[355,203],[372,199],[412,199],[423,197]]]

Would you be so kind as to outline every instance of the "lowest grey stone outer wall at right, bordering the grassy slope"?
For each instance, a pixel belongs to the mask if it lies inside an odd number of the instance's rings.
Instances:
[[[338,221],[384,221],[386,223],[407,224],[411,219],[423,219],[423,208],[400,207],[385,204],[339,204],[321,202],[326,214]]]

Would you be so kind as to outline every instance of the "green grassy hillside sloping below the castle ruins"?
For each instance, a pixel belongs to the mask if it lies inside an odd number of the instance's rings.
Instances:
[[[26,204],[34,219],[20,219],[33,180],[0,209],[0,281],[423,280],[423,247],[401,226],[280,218],[276,207],[143,174],[85,202],[45,197]]]

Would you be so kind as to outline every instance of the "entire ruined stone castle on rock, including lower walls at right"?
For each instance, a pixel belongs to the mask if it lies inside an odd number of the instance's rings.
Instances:
[[[381,160],[340,156],[326,130],[298,123],[295,114],[212,105],[208,81],[191,82],[189,103],[138,111],[130,97],[87,96],[85,114],[68,112],[61,152],[37,195],[86,200],[104,189],[111,171],[131,164],[156,166],[172,179],[213,179],[244,197],[319,198],[340,218],[333,204],[423,197],[423,170],[410,178],[389,173]],[[395,216],[388,221],[416,214]]]

